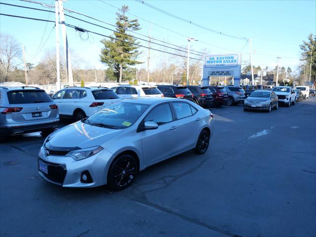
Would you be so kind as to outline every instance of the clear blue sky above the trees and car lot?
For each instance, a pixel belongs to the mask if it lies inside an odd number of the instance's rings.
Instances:
[[[51,4],[53,0],[40,0],[41,2]],[[130,7],[129,13],[144,18],[139,19],[142,29],[139,33],[147,35],[148,29],[151,29],[151,36],[158,40],[164,40],[176,45],[187,47],[186,37],[193,37],[199,41],[191,42],[191,49],[203,51],[208,54],[229,53],[234,51],[242,52],[242,61],[249,60],[249,45],[244,40],[225,37],[204,29],[198,28],[189,23],[185,23],[167,16],[157,10],[154,10],[142,3],[134,0],[103,0],[115,7],[126,4]],[[43,8],[39,4],[23,2],[19,0],[0,0],[3,3],[18,4],[35,8]],[[115,24],[117,11],[116,8],[99,0],[67,0],[64,7],[79,11],[86,15],[93,16],[102,21]],[[150,0],[150,4],[170,12],[179,17],[188,19],[194,23],[205,26],[215,31],[223,32],[229,35],[252,38],[252,48],[256,51],[253,54],[254,65],[276,66],[276,56],[281,57],[280,65],[292,67],[294,71],[299,64],[300,50],[299,45],[302,40],[306,40],[310,33],[316,34],[316,1],[168,1],[168,0]],[[52,8],[54,11],[54,8]],[[40,12],[31,9],[0,5],[0,12],[4,14],[22,15],[41,19],[48,19],[48,12]],[[76,16],[75,14],[72,14]],[[134,16],[128,15],[130,18]],[[84,18],[77,16],[79,18]],[[49,20],[54,20],[55,15],[51,13]],[[85,20],[87,20],[85,18]],[[94,22],[93,20],[88,20]],[[152,22],[152,24],[150,23]],[[83,27],[104,35],[111,35],[108,30],[92,26],[90,24],[79,22],[78,20],[67,18],[66,23]],[[94,22],[97,23],[97,22]],[[97,23],[100,24],[100,23]],[[14,36],[26,48],[26,59],[32,63],[38,63],[43,57],[44,51],[55,47],[55,31],[52,30],[54,24],[48,23],[43,42],[47,40],[40,53],[36,53],[40,39],[43,36],[45,22],[38,22],[26,19],[11,18],[0,16],[0,33]],[[103,26],[107,26],[102,24]],[[166,30],[164,28],[168,28]],[[107,26],[109,27],[109,26]],[[111,28],[111,27],[110,27]],[[49,36],[49,33],[51,35]],[[174,33],[176,32],[176,33]],[[177,34],[179,33],[179,34]],[[181,35],[180,35],[181,34]],[[61,34],[60,34],[61,35]],[[78,67],[105,68],[99,62],[99,53],[102,47],[101,36],[89,35],[89,40],[83,41],[76,32],[67,29],[69,45],[78,59],[74,64]],[[183,35],[183,36],[182,36]],[[61,39],[61,38],[60,38]],[[43,43],[42,42],[42,43]],[[62,40],[60,40],[62,43]],[[143,42],[144,45],[148,43]],[[41,44],[42,45],[42,44]],[[61,44],[62,45],[62,44]],[[174,52],[162,48],[158,45],[152,45],[153,48]],[[40,46],[41,48],[41,46]],[[225,48],[225,49],[223,49]],[[140,61],[146,61],[147,49],[142,49],[143,53]],[[234,51],[232,51],[234,50]],[[165,53],[151,51],[152,69],[160,67],[161,64],[181,60],[179,57],[171,57]],[[191,55],[194,56],[194,55]],[[138,68],[146,68],[146,63],[138,65]]]

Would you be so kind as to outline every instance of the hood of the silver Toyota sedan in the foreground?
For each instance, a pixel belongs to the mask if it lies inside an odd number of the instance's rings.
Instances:
[[[93,126],[81,121],[65,126],[51,135],[46,143],[50,150],[75,150],[72,148],[88,148],[102,146],[115,139],[123,129],[111,129]],[[62,149],[67,148],[67,149]]]

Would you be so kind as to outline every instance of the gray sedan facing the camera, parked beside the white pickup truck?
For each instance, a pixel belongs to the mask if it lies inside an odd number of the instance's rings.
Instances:
[[[275,108],[278,109],[277,95],[269,90],[255,90],[245,99],[243,110],[264,110],[271,112]]]

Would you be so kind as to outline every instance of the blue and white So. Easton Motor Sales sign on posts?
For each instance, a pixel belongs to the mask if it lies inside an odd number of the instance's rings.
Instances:
[[[210,77],[234,77],[234,85],[240,83],[240,54],[215,54],[205,56],[203,85],[209,85]]]

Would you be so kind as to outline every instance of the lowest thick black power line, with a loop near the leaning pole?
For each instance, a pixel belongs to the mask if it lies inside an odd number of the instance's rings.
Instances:
[[[4,13],[0,13],[0,15],[3,15],[3,16],[10,16],[10,17],[16,17],[16,18],[22,18],[22,19],[29,19],[29,20],[37,20],[37,21],[46,21],[46,22],[53,22],[55,23],[54,21],[49,21],[49,20],[45,20],[45,19],[39,19],[39,18],[33,18],[33,17],[26,17],[26,16],[17,16],[17,15],[9,15],[9,14],[4,14]],[[59,23],[60,24],[60,23]],[[137,45],[139,47],[143,47],[143,48],[150,48],[150,47],[147,47],[147,46],[144,46],[144,45],[141,45],[141,44],[137,44],[137,43],[132,43],[132,42],[126,42],[124,40],[119,40],[119,39],[116,39],[116,38],[113,38],[111,36],[106,36],[106,35],[103,35],[103,34],[100,34],[100,33],[97,33],[97,32],[93,32],[93,31],[89,31],[89,30],[86,30],[86,29],[82,29],[82,28],[79,28],[77,26],[74,26],[74,25],[70,25],[70,24],[67,24],[65,23],[66,26],[70,27],[70,28],[73,28],[77,31],[84,31],[84,32],[87,32],[87,33],[93,33],[93,34],[96,34],[96,35],[99,35],[99,36],[103,36],[103,37],[106,37],[106,38],[110,38],[112,40],[118,40],[118,41],[122,41],[122,42],[125,42],[125,43],[129,43],[129,44],[132,44],[132,45]],[[176,54],[176,53],[171,53],[171,52],[167,52],[167,51],[163,51],[163,50],[160,50],[160,49],[157,49],[157,48],[151,48],[152,50],[155,50],[155,51],[159,51],[159,52],[163,52],[163,53],[168,53],[168,54],[171,54],[171,55],[175,55],[175,56],[179,56],[179,57],[184,57],[186,58],[187,56],[184,56],[184,55],[180,55],[180,54]],[[194,59],[194,60],[197,60],[197,61],[200,61],[202,59],[198,59],[198,58],[191,58],[191,59]]]

